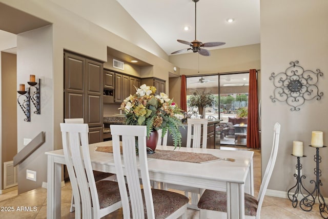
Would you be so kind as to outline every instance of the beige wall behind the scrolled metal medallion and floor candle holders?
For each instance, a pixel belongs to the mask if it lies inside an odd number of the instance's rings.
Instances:
[[[308,147],[311,144],[311,131],[323,131],[324,145],[328,142],[328,1],[298,1],[298,0],[261,0],[261,145],[262,145],[262,173],[267,166],[272,147],[272,133],[275,122],[281,124],[280,144],[276,166],[269,184],[269,189],[282,192],[288,191],[296,180],[296,157],[291,156],[293,140],[302,141],[304,155],[301,158],[302,173],[306,176],[302,180],[309,189],[313,190],[315,180],[315,149]],[[299,111],[291,111],[285,102],[273,103],[274,86],[269,77],[272,72],[284,72],[290,67],[290,62],[299,61],[305,70],[320,69],[323,77],[319,78],[317,86],[323,92],[320,101],[313,99],[300,106]],[[324,197],[328,197],[328,150],[320,149],[322,162],[320,177],[323,186],[320,187]],[[273,191],[275,193],[275,191]],[[277,193],[279,194],[279,193]],[[276,194],[276,195],[277,195]],[[281,193],[285,195],[285,193]],[[317,209],[316,209],[317,210]]]

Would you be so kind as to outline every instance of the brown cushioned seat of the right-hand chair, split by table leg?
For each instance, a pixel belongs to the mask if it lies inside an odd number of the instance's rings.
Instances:
[[[257,204],[254,196],[245,193],[245,215],[256,216]],[[198,202],[198,208],[227,212],[227,193],[205,190]]]

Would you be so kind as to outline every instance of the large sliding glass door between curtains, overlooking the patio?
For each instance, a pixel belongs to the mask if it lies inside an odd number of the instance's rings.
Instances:
[[[227,145],[246,145],[249,73],[197,75],[187,77],[187,103],[195,92],[211,93],[215,98],[212,107],[204,108],[204,118],[222,120],[220,142]],[[200,117],[198,107],[187,111],[191,117]],[[211,117],[213,116],[213,117]],[[235,134],[236,133],[236,134]]]

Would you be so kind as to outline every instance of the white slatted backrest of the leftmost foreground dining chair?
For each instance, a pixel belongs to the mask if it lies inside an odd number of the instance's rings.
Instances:
[[[60,124],[63,136],[63,150],[70,176],[76,176],[83,218],[97,217],[99,200],[91,166],[88,124]]]

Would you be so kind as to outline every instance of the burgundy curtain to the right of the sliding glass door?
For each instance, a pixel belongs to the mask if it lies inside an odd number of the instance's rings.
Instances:
[[[250,70],[248,96],[247,147],[260,148],[256,70]]]

